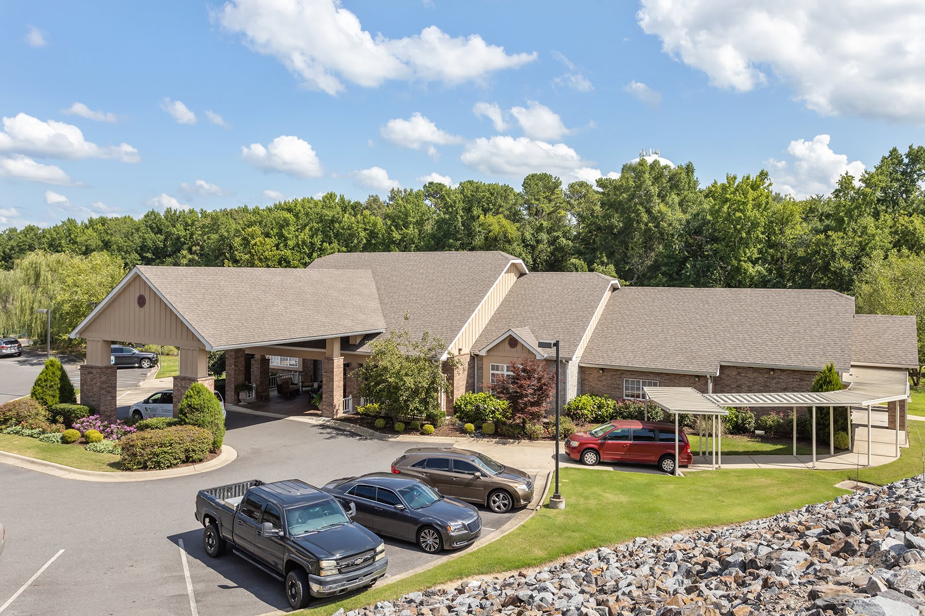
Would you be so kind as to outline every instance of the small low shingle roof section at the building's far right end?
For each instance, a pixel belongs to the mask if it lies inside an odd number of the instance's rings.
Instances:
[[[856,314],[851,338],[851,362],[871,366],[919,366],[916,318]]]

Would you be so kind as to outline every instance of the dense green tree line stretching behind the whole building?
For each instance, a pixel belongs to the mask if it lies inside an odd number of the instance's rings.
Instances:
[[[302,267],[343,250],[504,250],[532,270],[597,270],[628,284],[828,287],[851,292],[871,260],[925,251],[925,148],[896,149],[831,194],[796,200],[769,175],[701,187],[692,163],[627,164],[598,186],[528,175],[328,193],[265,208],[149,211],[0,234],[0,267],[33,250],[105,251],[135,264]]]

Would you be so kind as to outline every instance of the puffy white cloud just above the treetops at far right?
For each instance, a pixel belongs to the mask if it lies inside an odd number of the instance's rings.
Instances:
[[[829,135],[817,135],[809,141],[791,141],[787,153],[792,160],[768,161],[774,187],[796,199],[803,199],[831,192],[838,184],[838,178],[845,173],[853,175],[857,183],[864,173],[864,163],[848,163],[847,155],[832,151],[830,140]]]

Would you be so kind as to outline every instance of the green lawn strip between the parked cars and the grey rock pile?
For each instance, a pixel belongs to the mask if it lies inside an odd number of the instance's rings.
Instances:
[[[428,571],[376,587],[361,595],[299,612],[322,616],[456,579],[536,567],[562,556],[634,537],[727,525],[782,513],[845,494],[844,479],[883,485],[923,472],[922,440],[913,431],[910,447],[889,465],[857,471],[720,470],[686,477],[611,473],[565,468],[564,510],[541,509],[508,535]]]

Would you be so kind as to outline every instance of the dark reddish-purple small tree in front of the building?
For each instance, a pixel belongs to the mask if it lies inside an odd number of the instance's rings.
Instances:
[[[513,362],[511,374],[498,377],[491,384],[491,393],[511,405],[512,422],[540,423],[546,417],[549,400],[555,390],[555,383],[549,377],[546,362],[533,357],[522,357]]]

